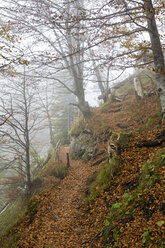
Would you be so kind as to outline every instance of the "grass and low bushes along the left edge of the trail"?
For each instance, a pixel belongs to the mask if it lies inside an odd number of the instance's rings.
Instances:
[[[45,179],[48,175],[63,179],[67,175],[67,167],[64,165],[55,167],[55,162],[53,158],[51,158],[45,168],[40,170],[37,177],[32,181],[32,198],[27,201],[27,199],[21,199],[21,197],[19,197],[17,200],[11,202],[7,209],[0,214],[0,240],[3,239],[4,236],[8,237],[8,241],[5,242],[3,248],[17,248],[15,243],[19,239],[19,234],[15,233],[15,226],[17,226],[26,215],[29,216],[29,223],[33,222],[39,206],[39,201],[34,195],[42,193],[44,187],[48,185]],[[53,183],[55,186],[57,185],[57,181]]]

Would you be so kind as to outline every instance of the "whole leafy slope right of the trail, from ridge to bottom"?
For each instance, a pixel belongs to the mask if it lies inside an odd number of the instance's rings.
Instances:
[[[160,119],[157,96],[140,101],[132,96],[95,109],[85,127],[80,124],[72,133],[83,146],[86,141],[86,151],[91,142],[97,143],[89,163],[101,164],[91,177],[88,207],[82,211],[88,233],[83,247],[165,247],[165,136],[164,128],[158,129]],[[114,132],[125,135],[109,163],[107,141]]]

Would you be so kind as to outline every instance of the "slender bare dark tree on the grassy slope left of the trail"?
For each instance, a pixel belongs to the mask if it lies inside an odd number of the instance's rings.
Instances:
[[[14,169],[25,180],[27,194],[31,190],[31,138],[38,124],[35,87],[25,76],[3,85],[0,111],[1,122],[12,113],[0,130],[2,154],[6,168]]]

